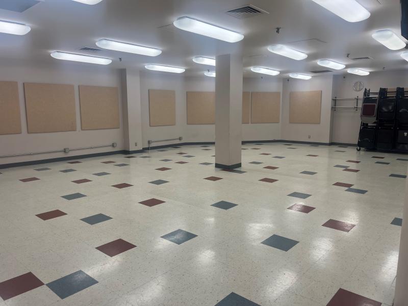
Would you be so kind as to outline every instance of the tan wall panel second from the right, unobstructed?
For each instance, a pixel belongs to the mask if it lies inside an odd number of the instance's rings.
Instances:
[[[252,92],[251,123],[279,123],[280,92]]]

